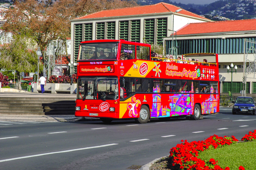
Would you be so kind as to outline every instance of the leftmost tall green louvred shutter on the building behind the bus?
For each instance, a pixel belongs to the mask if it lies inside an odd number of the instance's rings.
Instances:
[[[77,61],[78,52],[79,52],[79,46],[80,42],[83,40],[83,25],[82,24],[75,24],[74,25],[74,57],[75,61]],[[75,73],[76,73],[76,67],[75,67]]]

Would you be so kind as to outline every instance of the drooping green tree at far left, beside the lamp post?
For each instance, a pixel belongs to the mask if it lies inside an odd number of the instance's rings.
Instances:
[[[18,75],[18,90],[21,90],[21,72],[35,72],[37,70],[36,51],[32,50],[33,41],[22,35],[14,35],[9,44],[1,46],[0,67],[15,70]],[[40,70],[42,70],[40,62]]]

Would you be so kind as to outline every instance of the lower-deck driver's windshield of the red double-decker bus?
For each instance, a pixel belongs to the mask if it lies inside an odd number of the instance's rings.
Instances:
[[[116,77],[79,77],[78,99],[116,100],[119,96]]]

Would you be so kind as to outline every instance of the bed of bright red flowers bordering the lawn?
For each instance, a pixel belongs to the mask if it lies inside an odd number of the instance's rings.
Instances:
[[[245,135],[242,140],[255,140],[256,130],[254,132],[249,132]],[[170,151],[170,156],[173,158],[173,166],[179,165],[179,169],[182,170],[229,170],[229,167],[225,169],[218,165],[218,161],[210,159],[209,161],[204,161],[199,159],[198,153],[207,149],[216,149],[218,147],[227,146],[236,143],[238,140],[234,136],[224,136],[219,137],[217,135],[210,136],[203,141],[193,141],[188,142],[187,140],[181,140],[181,144],[177,144]],[[239,170],[244,170],[243,166],[239,167]]]

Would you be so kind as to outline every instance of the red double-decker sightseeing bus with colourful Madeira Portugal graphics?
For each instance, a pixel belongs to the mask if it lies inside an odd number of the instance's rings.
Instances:
[[[75,116],[146,123],[219,112],[218,54],[185,54],[178,63],[150,52],[149,44],[124,40],[81,42]],[[189,58],[196,62],[185,64]]]

